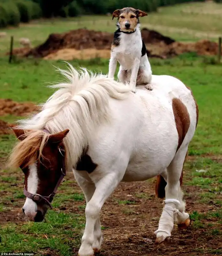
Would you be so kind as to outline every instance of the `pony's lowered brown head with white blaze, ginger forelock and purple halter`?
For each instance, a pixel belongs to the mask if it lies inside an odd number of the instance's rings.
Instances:
[[[12,128],[19,139],[9,158],[11,167],[20,167],[25,174],[24,214],[31,221],[42,221],[55,192],[65,176],[65,130],[50,134],[47,130]]]

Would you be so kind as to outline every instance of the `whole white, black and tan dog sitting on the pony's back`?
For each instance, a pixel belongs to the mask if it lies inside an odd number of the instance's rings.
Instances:
[[[111,46],[108,77],[114,77],[118,61],[120,64],[119,81],[124,84],[128,83],[134,93],[136,85],[139,84],[145,84],[145,88],[152,90],[150,85],[152,71],[139,22],[139,17],[146,15],[145,12],[132,7],[116,10],[112,15],[112,19],[118,17],[118,22]]]

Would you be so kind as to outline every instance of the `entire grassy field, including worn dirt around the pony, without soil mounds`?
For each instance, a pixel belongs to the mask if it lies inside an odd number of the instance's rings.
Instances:
[[[211,34],[210,38],[216,39],[216,35],[222,31],[222,22],[219,22],[221,13],[222,5],[181,4],[160,8],[158,13],[145,17],[142,25],[146,26],[146,22],[149,22],[149,27],[153,26],[163,34],[181,41],[204,38],[201,33]],[[8,36],[0,38],[0,51],[3,53],[7,49],[9,35],[16,36],[16,39],[22,36],[33,38],[33,44],[36,45],[42,43],[49,33],[81,26],[113,31],[111,17],[96,17],[94,25],[92,17],[87,19],[54,20],[53,23],[39,21],[20,28],[6,29]],[[180,29],[181,33],[178,33]],[[190,34],[190,31],[195,33]],[[177,230],[175,226],[170,244],[154,245],[153,232],[157,229],[163,207],[162,200],[155,198],[155,179],[121,184],[101,212],[104,236],[101,256],[221,255],[222,66],[216,64],[214,57],[198,57],[192,53],[169,60],[151,59],[150,62],[154,74],[175,76],[191,87],[199,106],[199,124],[189,146],[182,186],[192,225],[183,231]],[[96,72],[108,72],[108,60],[73,60],[71,63],[76,68],[83,66]],[[7,58],[2,55],[0,98],[44,102],[52,94],[46,85],[61,79],[55,66],[65,68],[65,63],[18,59],[8,64]],[[9,123],[18,118],[21,116],[0,116],[1,120]],[[5,168],[15,141],[12,134],[0,135],[0,253],[77,255],[85,224],[85,200],[72,173],[68,173],[65,183],[59,187],[53,200],[54,209],[48,211],[46,220],[42,223],[27,222],[21,212],[25,201],[23,173],[21,170],[15,172]],[[198,172],[201,169],[204,172]]]

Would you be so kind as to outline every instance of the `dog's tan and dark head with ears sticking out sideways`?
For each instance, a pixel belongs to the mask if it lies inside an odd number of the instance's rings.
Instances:
[[[118,25],[122,31],[133,31],[139,22],[139,17],[146,16],[145,12],[139,9],[134,9],[132,7],[125,7],[123,9],[118,9],[113,12],[112,19],[118,18]]]

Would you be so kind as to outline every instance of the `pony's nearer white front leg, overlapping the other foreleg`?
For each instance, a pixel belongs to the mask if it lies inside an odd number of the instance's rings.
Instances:
[[[122,180],[122,177],[122,175],[120,176],[117,173],[108,173],[106,176],[96,182],[96,190],[86,205],[86,227],[82,236],[79,256],[94,255],[94,232],[95,227],[98,225],[96,222],[98,221],[100,210],[106,199],[111,195],[119,182]]]

